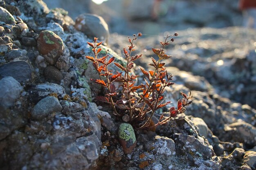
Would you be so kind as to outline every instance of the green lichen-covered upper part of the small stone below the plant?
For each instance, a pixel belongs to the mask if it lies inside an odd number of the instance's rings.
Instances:
[[[125,141],[129,141],[131,139],[132,143],[135,143],[136,141],[136,137],[135,137],[135,133],[132,128],[132,125],[126,124],[126,123],[120,124],[118,137]]]

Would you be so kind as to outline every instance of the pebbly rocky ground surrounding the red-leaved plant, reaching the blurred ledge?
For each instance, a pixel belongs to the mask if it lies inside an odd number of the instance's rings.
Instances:
[[[127,37],[95,15],[74,21],[41,0],[0,1],[0,170],[255,170],[256,31],[175,32],[166,100],[175,106],[191,90],[193,103],[155,131],[127,128],[135,148],[125,154],[122,121],[94,103],[101,88],[85,56],[99,36],[100,55],[122,63]],[[142,37],[137,65],[147,68],[163,37]]]

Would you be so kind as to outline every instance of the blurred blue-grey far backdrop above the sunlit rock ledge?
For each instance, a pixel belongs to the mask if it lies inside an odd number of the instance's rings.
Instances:
[[[196,27],[241,26],[238,0],[44,0],[63,8],[75,20],[94,13],[108,23],[110,33],[164,33]]]

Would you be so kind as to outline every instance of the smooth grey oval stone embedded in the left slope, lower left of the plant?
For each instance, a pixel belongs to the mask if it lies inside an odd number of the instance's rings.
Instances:
[[[48,96],[41,99],[34,106],[31,116],[33,119],[40,120],[47,117],[52,112],[61,111],[62,106],[56,97]]]

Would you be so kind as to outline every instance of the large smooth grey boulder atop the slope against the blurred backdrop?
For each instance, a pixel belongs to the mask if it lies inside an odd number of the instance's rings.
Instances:
[[[89,13],[79,15],[76,18],[75,28],[90,38],[99,38],[100,41],[108,42],[110,37],[108,24],[98,15]]]

